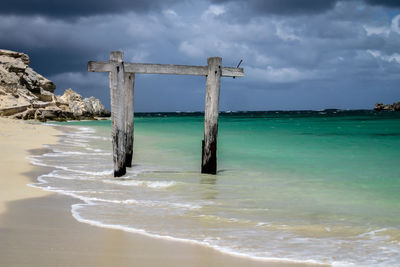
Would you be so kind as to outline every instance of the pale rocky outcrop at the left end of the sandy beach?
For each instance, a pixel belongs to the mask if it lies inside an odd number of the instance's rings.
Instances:
[[[24,120],[82,120],[109,117],[99,99],[72,89],[54,94],[56,85],[29,67],[29,56],[0,49],[0,116]]]

